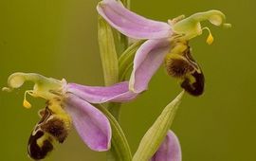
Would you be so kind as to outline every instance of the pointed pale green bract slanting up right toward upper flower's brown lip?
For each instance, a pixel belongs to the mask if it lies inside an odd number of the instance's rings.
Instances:
[[[161,115],[157,117],[155,123],[141,139],[133,161],[148,161],[155,154],[173,123],[183,94],[184,91],[174,98],[174,100],[164,108]]]

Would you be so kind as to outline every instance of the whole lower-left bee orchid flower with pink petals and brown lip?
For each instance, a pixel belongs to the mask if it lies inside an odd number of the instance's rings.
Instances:
[[[83,142],[93,151],[107,151],[111,145],[109,120],[91,103],[106,101],[128,101],[136,97],[128,90],[128,82],[108,87],[84,86],[55,80],[34,73],[14,73],[9,76],[4,91],[21,87],[25,81],[32,81],[34,87],[25,92],[23,105],[30,108],[27,94],[34,98],[45,98],[46,108],[39,111],[41,120],[35,126],[28,140],[27,152],[35,160],[43,159],[53,150],[54,140],[63,143],[71,123]]]

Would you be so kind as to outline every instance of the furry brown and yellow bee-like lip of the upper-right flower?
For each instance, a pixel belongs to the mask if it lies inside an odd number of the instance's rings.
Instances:
[[[187,42],[176,43],[173,52],[165,59],[168,74],[180,79],[180,86],[192,96],[200,96],[204,92],[205,78],[199,65],[193,60]]]

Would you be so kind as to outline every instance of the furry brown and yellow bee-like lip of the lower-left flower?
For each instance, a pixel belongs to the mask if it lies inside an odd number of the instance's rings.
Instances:
[[[28,155],[35,160],[44,159],[53,150],[54,140],[63,143],[68,134],[69,117],[56,110],[56,106],[54,108],[51,108],[51,106],[52,104],[48,103],[46,109],[39,112],[42,118],[35,126],[28,140]],[[51,109],[54,109],[55,112]]]

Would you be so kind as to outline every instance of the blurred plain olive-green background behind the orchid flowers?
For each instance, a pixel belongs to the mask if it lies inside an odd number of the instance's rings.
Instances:
[[[0,86],[9,74],[36,72],[56,79],[102,85],[97,42],[96,0],[1,0]],[[186,95],[174,119],[184,161],[256,160],[256,1],[132,1],[137,13],[166,21],[180,14],[220,9],[232,28],[211,27],[191,42],[193,56],[206,77],[200,98]],[[209,25],[204,23],[204,25]],[[25,87],[14,93],[0,92],[0,160],[27,161],[27,138],[38,121],[43,99],[28,98],[34,108],[22,107]],[[176,80],[162,68],[150,90],[122,107],[121,126],[135,152],[142,135],[156,116],[180,91]],[[72,131],[47,161],[100,161],[105,152],[91,152]]]

